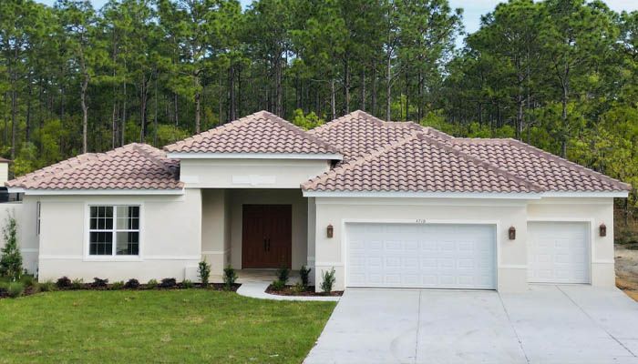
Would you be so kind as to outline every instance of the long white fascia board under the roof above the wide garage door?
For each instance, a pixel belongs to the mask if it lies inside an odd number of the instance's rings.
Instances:
[[[379,197],[379,198],[494,198],[540,199],[537,193],[498,192],[389,192],[389,191],[304,191],[304,197]]]

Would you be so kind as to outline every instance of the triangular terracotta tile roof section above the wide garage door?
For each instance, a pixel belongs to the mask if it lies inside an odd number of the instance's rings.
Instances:
[[[302,185],[306,191],[538,192],[530,182],[414,132]]]

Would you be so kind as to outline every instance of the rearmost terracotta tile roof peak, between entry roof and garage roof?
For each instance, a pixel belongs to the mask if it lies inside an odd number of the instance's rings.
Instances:
[[[379,147],[410,136],[415,131],[423,131],[437,139],[451,137],[412,122],[386,122],[360,110],[308,130],[308,134],[339,148],[344,153],[345,160],[354,160],[365,157]]]

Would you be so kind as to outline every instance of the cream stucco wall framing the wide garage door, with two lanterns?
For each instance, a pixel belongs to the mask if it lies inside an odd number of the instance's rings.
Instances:
[[[334,267],[336,285],[345,288],[345,225],[350,222],[487,223],[497,226],[498,281],[501,291],[527,288],[527,208],[525,201],[491,199],[427,198],[329,198],[316,197],[314,278]],[[419,223],[422,223],[420,221]],[[334,238],[326,227],[334,226]],[[516,240],[509,240],[509,227]]]

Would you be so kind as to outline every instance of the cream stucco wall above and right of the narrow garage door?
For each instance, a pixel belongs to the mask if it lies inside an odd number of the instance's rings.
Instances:
[[[614,287],[613,198],[543,198],[528,206],[531,221],[582,221],[589,224],[592,249],[592,286]],[[599,227],[605,224],[607,236]]]

